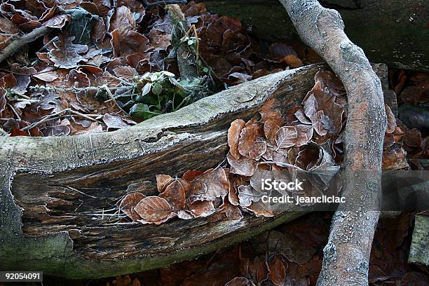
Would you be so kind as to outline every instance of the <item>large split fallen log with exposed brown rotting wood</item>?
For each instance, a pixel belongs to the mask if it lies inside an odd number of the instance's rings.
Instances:
[[[157,174],[180,176],[218,165],[228,151],[231,121],[257,115],[268,97],[278,99],[280,111],[300,104],[320,69],[327,66],[264,76],[115,132],[0,137],[0,270],[67,278],[135,273],[198,257],[301,216],[305,212],[292,205],[276,204],[274,217],[173,219],[154,226],[111,222],[117,214],[108,210],[130,186],[155,193]]]

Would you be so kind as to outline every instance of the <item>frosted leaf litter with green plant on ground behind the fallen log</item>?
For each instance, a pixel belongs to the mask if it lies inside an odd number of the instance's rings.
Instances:
[[[51,30],[1,63],[0,135],[117,130],[303,65],[291,46],[263,42],[240,21],[208,13],[202,3],[181,8],[195,27],[189,41],[198,37],[200,74],[191,80],[180,77],[162,1],[2,3],[0,48],[33,29]]]

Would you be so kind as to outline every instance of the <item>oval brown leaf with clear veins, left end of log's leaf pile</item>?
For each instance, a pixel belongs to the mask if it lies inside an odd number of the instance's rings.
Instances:
[[[143,224],[162,224],[176,215],[172,212],[172,207],[168,201],[158,196],[143,198],[137,203],[134,210],[142,217],[139,222]]]

